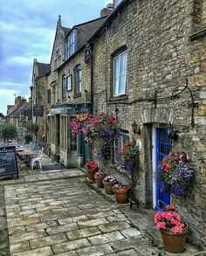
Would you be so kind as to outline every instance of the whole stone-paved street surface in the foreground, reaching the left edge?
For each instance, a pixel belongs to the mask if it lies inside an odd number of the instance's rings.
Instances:
[[[44,161],[51,162],[47,156]],[[19,180],[1,181],[5,208],[1,206],[0,213],[7,218],[10,254],[4,232],[0,255],[173,255],[154,246],[137,228],[145,220],[137,221],[135,211],[127,218],[111,198],[88,186],[81,170],[20,170],[19,174]],[[187,246],[182,255],[196,253]]]

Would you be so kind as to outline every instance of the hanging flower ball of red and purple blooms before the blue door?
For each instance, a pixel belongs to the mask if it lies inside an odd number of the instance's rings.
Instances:
[[[189,164],[189,156],[186,153],[170,152],[158,165],[156,174],[157,181],[161,183],[161,190],[180,197],[189,189],[194,170]]]

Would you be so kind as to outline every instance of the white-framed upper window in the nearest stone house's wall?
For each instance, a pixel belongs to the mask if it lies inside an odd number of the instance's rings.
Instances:
[[[127,71],[127,52],[113,58],[113,96],[120,96],[126,93],[126,71]]]

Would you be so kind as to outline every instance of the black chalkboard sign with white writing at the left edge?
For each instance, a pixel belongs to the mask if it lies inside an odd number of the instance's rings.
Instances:
[[[17,152],[14,146],[0,148],[0,176],[17,175]]]

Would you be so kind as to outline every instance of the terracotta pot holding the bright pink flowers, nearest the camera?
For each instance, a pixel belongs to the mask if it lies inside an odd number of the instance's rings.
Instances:
[[[188,225],[186,225],[182,233],[174,234],[167,230],[161,229],[161,238],[164,247],[169,253],[182,253],[184,251],[185,241],[188,233]]]

